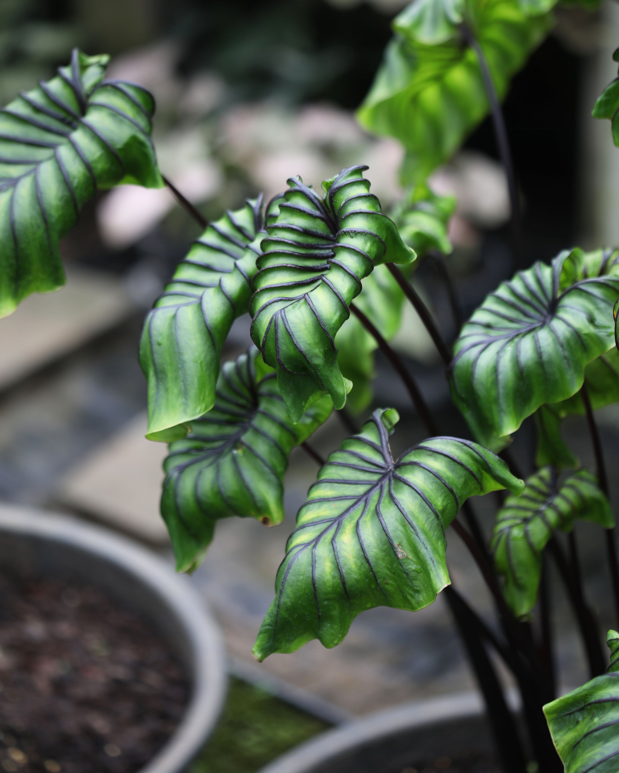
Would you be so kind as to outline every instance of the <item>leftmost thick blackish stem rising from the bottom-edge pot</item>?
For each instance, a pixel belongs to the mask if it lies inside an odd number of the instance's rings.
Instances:
[[[456,591],[452,591],[448,586],[443,592],[467,649],[475,676],[477,676],[477,683],[484,695],[487,717],[494,735],[498,756],[501,759],[501,767],[505,773],[525,773],[525,755],[515,727],[514,717],[511,716],[507,703],[505,703],[501,683],[494,671],[492,661],[488,657],[484,642],[477,632],[476,621],[470,615],[468,605],[463,604],[463,600]]]

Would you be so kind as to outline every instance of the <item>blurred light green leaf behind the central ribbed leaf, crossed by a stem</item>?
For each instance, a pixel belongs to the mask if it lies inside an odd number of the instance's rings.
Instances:
[[[364,279],[354,302],[387,341],[400,329],[404,293],[386,266],[377,266]],[[342,375],[353,383],[347,409],[351,414],[360,414],[374,397],[374,349],[378,344],[357,317],[351,317],[337,332],[335,346]]]

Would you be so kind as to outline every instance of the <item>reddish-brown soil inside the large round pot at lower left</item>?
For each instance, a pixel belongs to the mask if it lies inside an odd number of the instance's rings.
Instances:
[[[180,723],[167,643],[97,588],[0,575],[0,768],[135,773]]]

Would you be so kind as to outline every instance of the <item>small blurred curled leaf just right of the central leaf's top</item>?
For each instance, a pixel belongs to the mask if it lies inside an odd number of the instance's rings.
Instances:
[[[429,250],[448,255],[453,247],[447,228],[455,209],[455,196],[436,196],[427,186],[419,185],[395,206],[392,219],[404,243],[418,257]]]

